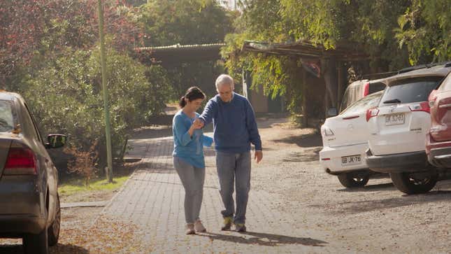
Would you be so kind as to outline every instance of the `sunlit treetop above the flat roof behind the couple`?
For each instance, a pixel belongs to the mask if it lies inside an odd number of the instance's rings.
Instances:
[[[214,0],[150,0],[141,6],[146,45],[220,43],[231,14]]]

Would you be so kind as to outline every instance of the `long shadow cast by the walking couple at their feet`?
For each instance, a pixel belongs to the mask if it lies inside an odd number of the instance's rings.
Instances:
[[[239,237],[235,235],[229,234],[215,234],[215,233],[206,233],[199,234],[203,237],[208,237],[212,241],[220,240],[220,241],[231,241],[233,243],[238,244],[258,244],[261,246],[280,246],[284,244],[302,244],[305,246],[324,246],[324,244],[328,244],[327,241],[321,241],[317,239],[311,238],[303,238],[303,237],[289,237],[280,234],[265,234],[265,233],[257,233],[257,232],[244,232],[241,233],[243,235],[250,236],[249,239],[244,237]]]

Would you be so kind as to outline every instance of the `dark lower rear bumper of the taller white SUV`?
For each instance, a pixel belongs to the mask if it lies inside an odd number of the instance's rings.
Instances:
[[[399,173],[425,171],[431,167],[427,161],[425,151],[412,153],[396,153],[394,155],[372,155],[367,150],[366,164],[380,173]]]

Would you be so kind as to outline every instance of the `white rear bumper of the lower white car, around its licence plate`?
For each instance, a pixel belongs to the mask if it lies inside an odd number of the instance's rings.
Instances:
[[[320,151],[320,164],[324,171],[329,174],[340,174],[351,171],[361,171],[368,169],[365,158],[365,150],[368,148],[367,143],[361,143],[352,146],[327,147],[325,146]],[[359,164],[343,165],[342,157],[360,155],[361,161]]]

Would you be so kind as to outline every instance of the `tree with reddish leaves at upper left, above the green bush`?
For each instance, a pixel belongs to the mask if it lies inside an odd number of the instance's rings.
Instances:
[[[142,45],[143,30],[132,10],[106,0],[106,32],[117,50]],[[15,74],[36,55],[91,48],[98,41],[97,25],[96,0],[0,1],[0,85],[14,89]]]

